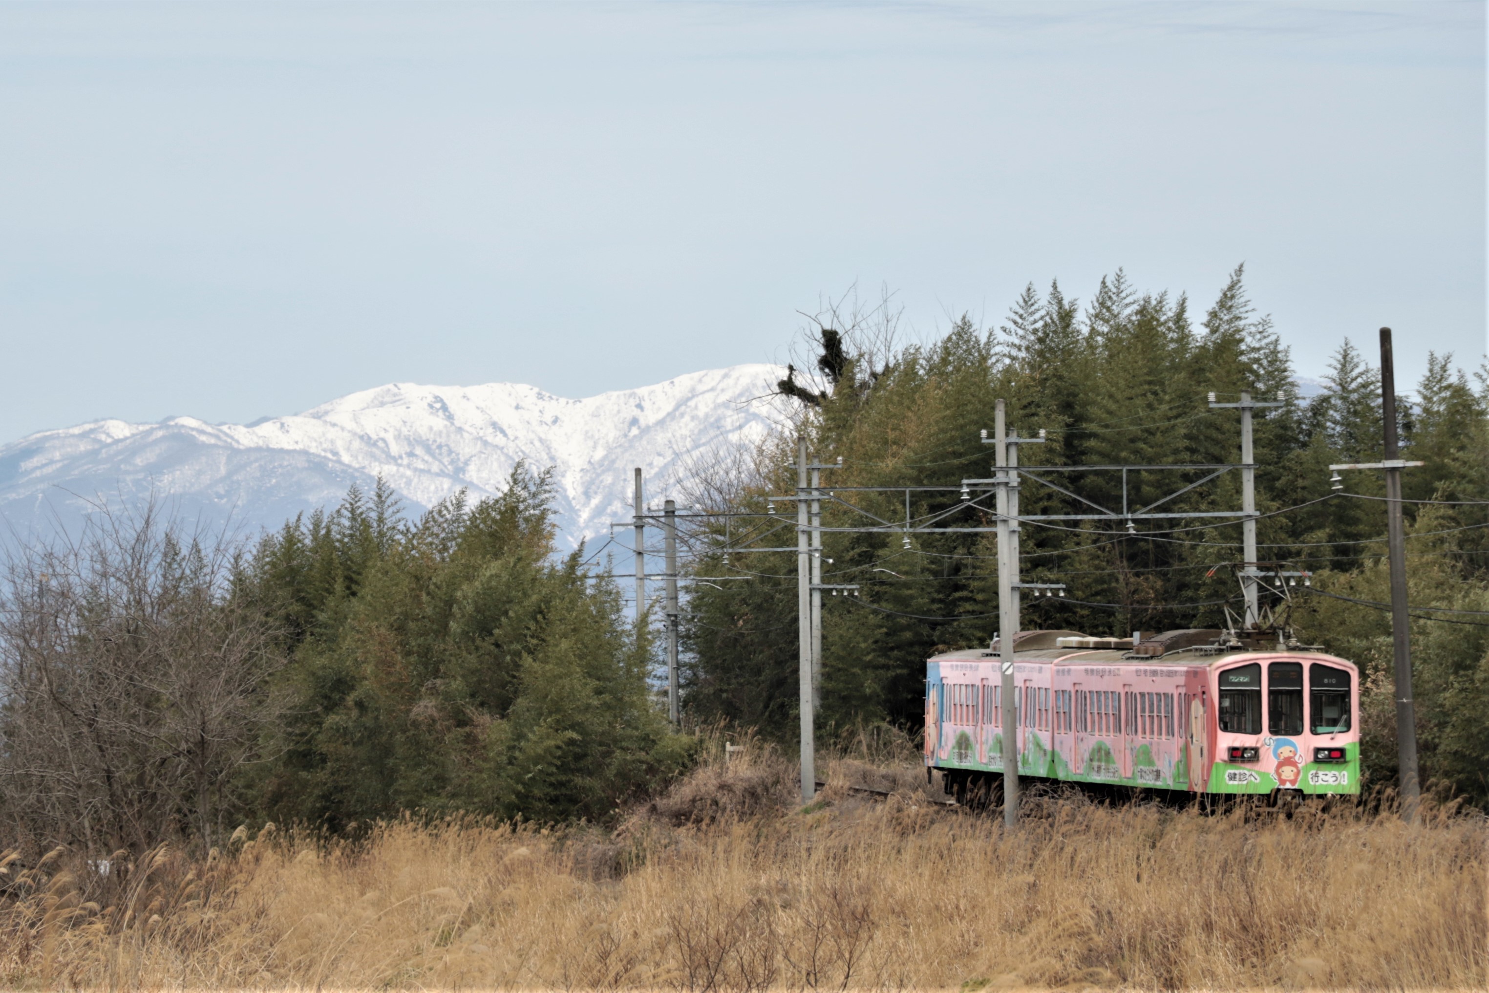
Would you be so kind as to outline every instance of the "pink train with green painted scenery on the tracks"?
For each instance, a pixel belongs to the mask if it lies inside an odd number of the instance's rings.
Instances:
[[[1170,631],[1115,648],[1024,631],[1014,685],[1020,777],[1190,794],[1358,794],[1358,670],[1307,649],[1217,648]],[[1276,642],[1273,642],[1275,645]],[[996,649],[926,662],[925,761],[948,792],[996,789],[1005,728]]]

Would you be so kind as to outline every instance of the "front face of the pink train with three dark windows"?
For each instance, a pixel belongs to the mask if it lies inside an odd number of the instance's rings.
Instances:
[[[1206,792],[1359,792],[1359,670],[1316,652],[1245,652],[1211,665]]]

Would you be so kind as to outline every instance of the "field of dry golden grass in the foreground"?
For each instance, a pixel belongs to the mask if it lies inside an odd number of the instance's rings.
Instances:
[[[911,770],[837,761],[828,779],[794,811],[791,768],[758,753],[613,832],[270,826],[205,863],[161,849],[107,878],[66,852],[12,861],[0,986],[1485,987],[1477,814],[1407,828],[1065,798],[1005,834]]]

